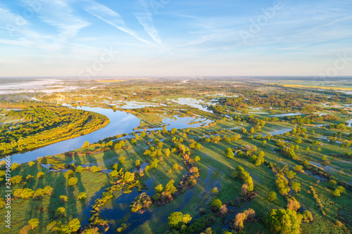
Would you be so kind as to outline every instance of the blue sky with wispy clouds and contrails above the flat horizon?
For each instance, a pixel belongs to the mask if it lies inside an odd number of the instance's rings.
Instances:
[[[352,1],[0,0],[0,77],[352,75]]]

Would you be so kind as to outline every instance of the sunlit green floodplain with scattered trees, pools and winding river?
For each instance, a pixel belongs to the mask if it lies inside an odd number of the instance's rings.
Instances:
[[[1,95],[7,233],[351,233],[350,80],[182,81]]]

